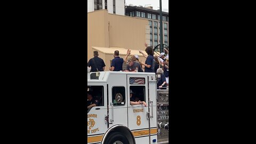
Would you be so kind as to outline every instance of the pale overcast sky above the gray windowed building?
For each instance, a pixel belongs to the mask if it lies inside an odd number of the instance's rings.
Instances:
[[[142,5],[148,5],[153,6],[154,10],[158,10],[159,8],[159,0],[125,0],[126,5],[133,4],[136,6]],[[162,0],[162,11],[168,12],[169,10],[169,1],[168,0]]]

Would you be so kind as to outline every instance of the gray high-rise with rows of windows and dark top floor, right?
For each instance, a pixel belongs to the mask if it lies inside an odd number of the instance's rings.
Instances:
[[[169,13],[162,12],[163,14],[163,44],[169,45]],[[160,44],[160,12],[153,10],[152,6],[126,6],[125,15],[130,17],[139,17],[147,19],[150,26],[150,46],[157,46]],[[166,46],[164,46],[166,47]]]

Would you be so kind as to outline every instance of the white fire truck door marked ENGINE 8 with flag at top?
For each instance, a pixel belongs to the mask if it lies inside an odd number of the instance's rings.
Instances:
[[[142,75],[127,75],[127,106],[128,106],[128,125],[134,137],[146,136],[149,133],[148,115],[148,79]],[[131,95],[130,95],[131,94]],[[144,101],[147,107],[131,105],[131,101]],[[148,143],[148,142],[145,142]]]

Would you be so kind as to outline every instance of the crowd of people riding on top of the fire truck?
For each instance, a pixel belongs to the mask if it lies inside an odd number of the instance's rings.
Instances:
[[[111,62],[109,68],[110,71],[125,71],[125,72],[145,72],[145,73],[155,73],[157,75],[157,89],[166,89],[169,86],[169,51],[164,49],[167,53],[160,53],[159,57],[154,57],[153,47],[145,44],[146,50],[144,52],[139,52],[146,58],[145,63],[139,60],[138,55],[131,55],[131,50],[127,50],[125,58],[119,57],[119,51],[114,52],[114,59]],[[105,71],[105,62],[99,58],[98,51],[93,52],[94,58],[90,59],[87,67],[91,68],[91,72]],[[126,69],[123,70],[123,63],[127,64]],[[143,70],[144,69],[144,70]]]

